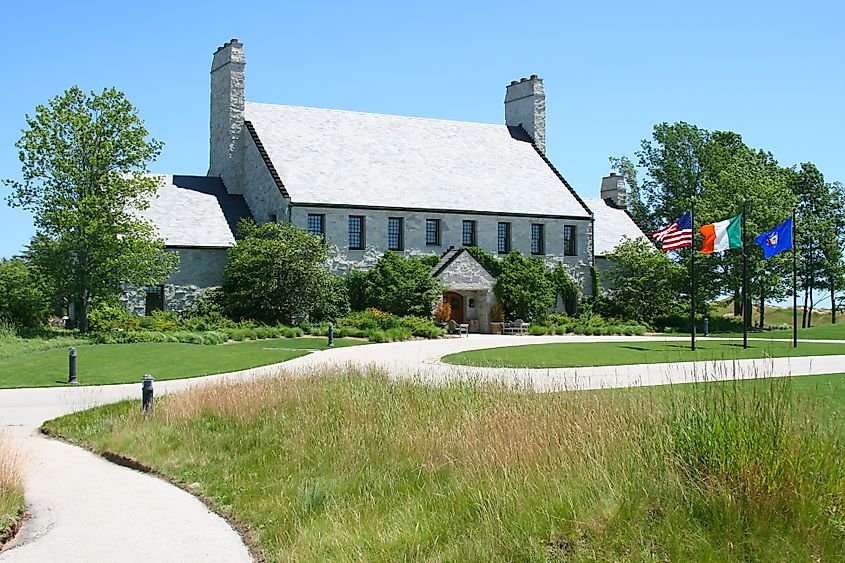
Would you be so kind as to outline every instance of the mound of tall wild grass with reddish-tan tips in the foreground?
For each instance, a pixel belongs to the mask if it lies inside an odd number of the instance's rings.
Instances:
[[[845,378],[815,381],[841,399]],[[843,405],[792,385],[535,394],[339,372],[46,426],[192,484],[275,561],[835,560]]]

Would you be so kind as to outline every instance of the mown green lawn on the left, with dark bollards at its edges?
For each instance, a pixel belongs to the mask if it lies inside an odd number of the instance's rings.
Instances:
[[[361,344],[336,339],[336,346]],[[202,346],[178,343],[84,344],[77,346],[77,373],[83,385],[135,383],[145,373],[156,380],[225,373],[284,362],[322,350],[325,338],[280,338]],[[0,351],[0,388],[64,385],[68,376],[67,348],[28,352],[11,357]]]

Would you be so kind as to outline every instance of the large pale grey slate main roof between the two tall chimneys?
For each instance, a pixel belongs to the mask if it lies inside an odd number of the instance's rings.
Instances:
[[[589,218],[505,125],[246,104],[294,203]]]

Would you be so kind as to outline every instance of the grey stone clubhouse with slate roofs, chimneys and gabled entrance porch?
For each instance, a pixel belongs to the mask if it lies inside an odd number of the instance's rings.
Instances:
[[[181,310],[219,286],[245,217],[324,236],[326,266],[338,274],[386,250],[437,254],[432,275],[454,320],[478,332],[490,330],[495,279],[463,248],[563,264],[589,295],[605,254],[643,236],[619,176],[585,199],[546,157],[536,75],[506,87],[504,124],[486,124],[247,102],[245,67],[237,39],[214,53],[208,175],[161,175],[139,212],[178,252],[180,269],[160,286],[127,288],[136,314]]]

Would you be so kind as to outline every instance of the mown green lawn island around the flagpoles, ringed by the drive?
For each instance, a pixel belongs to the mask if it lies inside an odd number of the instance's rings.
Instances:
[[[845,344],[799,343],[793,348],[789,342],[754,340],[743,349],[742,342],[701,339],[695,352],[688,342],[572,342],[472,350],[444,356],[443,361],[481,367],[558,368],[831,354],[845,354]]]

